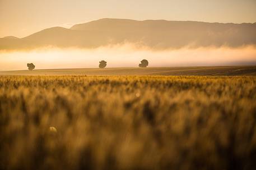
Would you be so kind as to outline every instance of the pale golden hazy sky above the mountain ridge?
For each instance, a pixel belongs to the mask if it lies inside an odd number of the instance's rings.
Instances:
[[[256,22],[256,0],[0,0],[0,37],[100,18]]]

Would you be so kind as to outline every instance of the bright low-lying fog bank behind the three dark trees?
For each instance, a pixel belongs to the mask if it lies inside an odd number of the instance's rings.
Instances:
[[[92,50],[44,48],[34,51],[2,51],[0,70],[25,70],[26,64],[30,62],[35,64],[35,69],[92,68],[98,67],[100,60],[107,61],[107,67],[138,67],[142,59],[147,59],[150,67],[256,65],[256,48],[184,47],[154,51],[122,45]]]

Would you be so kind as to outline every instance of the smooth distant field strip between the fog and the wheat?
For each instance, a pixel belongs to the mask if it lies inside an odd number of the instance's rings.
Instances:
[[[0,71],[0,75],[194,75],[237,76],[256,75],[256,66],[148,67],[105,69],[48,69]]]

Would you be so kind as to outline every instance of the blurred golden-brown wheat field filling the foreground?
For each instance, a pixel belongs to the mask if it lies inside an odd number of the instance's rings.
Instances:
[[[254,169],[254,76],[0,76],[0,169]]]

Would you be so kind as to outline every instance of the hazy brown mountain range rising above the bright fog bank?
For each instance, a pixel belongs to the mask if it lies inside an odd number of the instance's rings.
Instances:
[[[44,46],[94,48],[124,42],[157,49],[256,45],[256,23],[134,21],[104,18],[78,24],[70,29],[48,28],[24,38],[0,38],[0,50]]]

